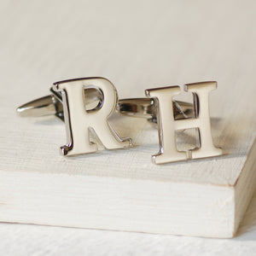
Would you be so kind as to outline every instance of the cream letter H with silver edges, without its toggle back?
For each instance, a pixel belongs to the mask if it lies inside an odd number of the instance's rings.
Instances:
[[[158,125],[160,152],[152,156],[155,164],[179,160],[197,159],[222,154],[220,148],[212,143],[211,120],[209,115],[209,93],[217,88],[217,82],[185,84],[184,90],[194,96],[195,118],[175,120],[172,97],[180,93],[179,86],[146,90],[147,96],[155,97],[158,102]],[[177,151],[175,131],[198,128],[200,148],[189,152]]]

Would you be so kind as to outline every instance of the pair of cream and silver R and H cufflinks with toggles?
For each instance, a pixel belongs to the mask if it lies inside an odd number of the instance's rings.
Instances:
[[[114,85],[104,78],[70,79],[56,82],[51,95],[28,102],[17,108],[21,116],[55,114],[67,129],[67,144],[61,154],[88,154],[97,151],[90,142],[96,135],[105,148],[128,148],[131,138],[121,138],[109,124],[114,111],[134,117],[145,117],[157,123],[160,152],[154,154],[155,164],[198,159],[222,154],[212,143],[209,93],[217,82],[185,84],[184,90],[192,92],[193,104],[173,101],[180,94],[179,86],[148,89],[145,98],[118,100]],[[186,152],[177,150],[176,131],[197,128],[198,147]]]

